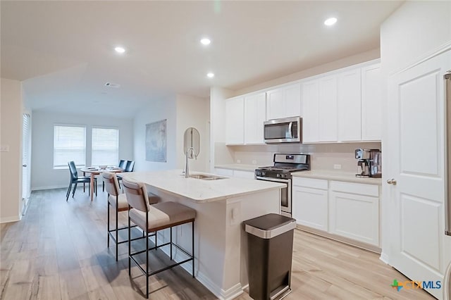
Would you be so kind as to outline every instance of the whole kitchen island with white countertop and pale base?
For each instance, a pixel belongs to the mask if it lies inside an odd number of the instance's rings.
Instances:
[[[195,174],[195,173],[193,173]],[[247,286],[247,239],[243,220],[280,213],[277,182],[225,177],[219,180],[185,178],[181,170],[123,173],[144,182],[161,201],[175,201],[197,211],[194,228],[195,277],[219,299],[233,299]],[[191,227],[181,225],[175,242],[191,251]],[[159,243],[169,232],[159,232]],[[164,250],[163,250],[164,251]],[[182,254],[175,253],[175,260]],[[191,270],[186,263],[183,268]]]

